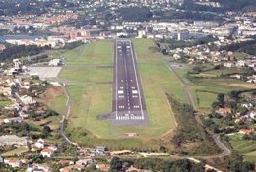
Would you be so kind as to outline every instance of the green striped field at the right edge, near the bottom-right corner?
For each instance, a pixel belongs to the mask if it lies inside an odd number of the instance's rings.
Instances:
[[[240,152],[246,160],[256,162],[256,141],[242,140],[242,134],[229,136],[234,150]]]

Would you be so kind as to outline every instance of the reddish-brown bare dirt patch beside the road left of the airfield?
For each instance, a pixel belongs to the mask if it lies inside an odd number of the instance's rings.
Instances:
[[[43,103],[48,104],[50,99],[62,94],[65,94],[65,92],[61,86],[48,86],[46,91],[40,96],[40,99]]]

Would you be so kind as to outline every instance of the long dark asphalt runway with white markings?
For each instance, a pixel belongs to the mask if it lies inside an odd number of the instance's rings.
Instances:
[[[112,124],[148,125],[148,115],[137,62],[129,39],[115,42]]]

